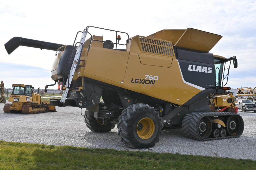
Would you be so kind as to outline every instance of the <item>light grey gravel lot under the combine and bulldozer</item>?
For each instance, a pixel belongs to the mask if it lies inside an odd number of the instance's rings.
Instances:
[[[107,133],[90,131],[76,107],[33,115],[6,114],[3,107],[0,104],[0,140],[136,151],[121,142],[117,128]],[[140,151],[256,160],[256,113],[240,115],[245,124],[240,138],[201,142],[184,137],[181,129],[171,129],[163,131],[155,147]]]

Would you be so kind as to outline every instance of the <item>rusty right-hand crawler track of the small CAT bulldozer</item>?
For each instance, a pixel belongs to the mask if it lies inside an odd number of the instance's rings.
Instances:
[[[47,105],[23,105],[22,106],[22,113],[23,114],[36,114],[36,113],[45,113],[48,112],[49,108]]]

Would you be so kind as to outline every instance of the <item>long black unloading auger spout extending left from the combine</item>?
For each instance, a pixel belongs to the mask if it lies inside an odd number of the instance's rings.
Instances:
[[[26,47],[40,48],[41,50],[46,49],[46,50],[53,50],[53,51],[56,51],[58,50],[59,47],[64,46],[63,44],[32,40],[32,39],[27,39],[22,37],[13,37],[7,43],[4,44],[8,54],[12,53],[20,45],[26,46]]]

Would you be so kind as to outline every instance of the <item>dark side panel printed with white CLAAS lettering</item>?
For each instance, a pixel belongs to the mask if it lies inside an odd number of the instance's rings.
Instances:
[[[213,60],[213,59],[212,59]],[[215,87],[214,64],[199,63],[178,59],[179,66],[186,82],[202,88]]]

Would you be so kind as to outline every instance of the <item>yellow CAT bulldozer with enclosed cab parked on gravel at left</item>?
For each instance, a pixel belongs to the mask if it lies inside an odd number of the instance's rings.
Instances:
[[[13,84],[13,92],[9,97],[12,104],[4,105],[4,113],[22,112],[23,114],[35,114],[45,112],[57,112],[55,106],[41,101],[40,94],[33,92],[34,87],[25,84]],[[39,88],[37,89],[39,90]]]

